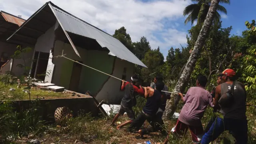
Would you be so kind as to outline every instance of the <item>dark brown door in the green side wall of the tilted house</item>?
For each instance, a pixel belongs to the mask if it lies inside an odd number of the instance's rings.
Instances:
[[[81,64],[83,62],[78,61]],[[72,69],[72,74],[70,78],[70,83],[69,83],[69,90],[77,92],[78,91],[78,86],[79,86],[79,81],[80,81],[80,75],[82,71],[82,65],[78,64],[76,62],[73,62],[73,69]]]

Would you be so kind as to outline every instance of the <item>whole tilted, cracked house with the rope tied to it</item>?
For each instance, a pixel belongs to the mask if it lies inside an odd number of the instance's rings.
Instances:
[[[123,97],[120,80],[57,56],[63,51],[67,58],[126,81],[130,81],[135,64],[146,67],[119,40],[52,2],[44,4],[7,41],[33,48],[26,55],[26,62],[33,59],[32,78],[83,94],[89,90],[98,101],[111,104],[118,104]],[[14,60],[14,66],[18,62]],[[38,75],[46,72],[50,74]]]

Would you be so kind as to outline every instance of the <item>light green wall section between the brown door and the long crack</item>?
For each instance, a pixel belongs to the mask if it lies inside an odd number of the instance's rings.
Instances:
[[[111,74],[114,65],[114,56],[108,55],[108,52],[88,50],[84,64],[107,74]],[[108,76],[106,74],[83,66],[79,82],[79,91],[86,92],[90,90],[94,95],[100,90],[102,84],[107,79]]]

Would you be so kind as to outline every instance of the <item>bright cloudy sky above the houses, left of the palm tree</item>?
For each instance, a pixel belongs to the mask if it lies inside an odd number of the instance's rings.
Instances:
[[[0,0],[0,10],[29,18],[48,0]],[[124,26],[132,41],[145,36],[152,48],[166,48],[186,43],[186,32],[178,31],[177,20],[189,0],[52,0],[60,8],[113,34]],[[183,20],[182,20],[183,23]],[[156,36],[157,34],[157,36]]]

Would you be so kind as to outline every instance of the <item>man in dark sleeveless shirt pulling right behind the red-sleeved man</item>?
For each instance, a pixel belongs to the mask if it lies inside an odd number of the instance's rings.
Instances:
[[[164,88],[164,82],[162,81],[158,81],[156,83],[156,90],[151,87],[144,88],[144,91],[145,91],[144,96],[147,102],[143,107],[142,112],[140,112],[139,116],[129,126],[128,131],[138,132],[138,130],[146,120],[152,126],[152,131],[154,131],[155,129],[158,129],[157,128],[158,125],[156,125],[154,121],[154,116],[156,115],[158,108],[161,106],[161,90],[163,88]],[[144,135],[146,133],[147,133],[146,130],[143,130],[142,132],[140,132],[141,135]]]

